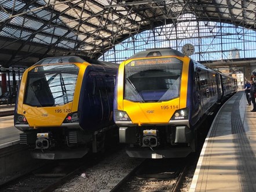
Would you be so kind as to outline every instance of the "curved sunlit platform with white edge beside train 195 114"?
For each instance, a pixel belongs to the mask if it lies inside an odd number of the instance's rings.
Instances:
[[[189,192],[256,191],[256,112],[244,91],[219,110],[204,142]]]

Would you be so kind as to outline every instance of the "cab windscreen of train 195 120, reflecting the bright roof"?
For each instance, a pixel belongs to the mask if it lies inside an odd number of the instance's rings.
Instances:
[[[24,104],[43,107],[72,102],[78,72],[74,64],[35,67],[28,72]]]

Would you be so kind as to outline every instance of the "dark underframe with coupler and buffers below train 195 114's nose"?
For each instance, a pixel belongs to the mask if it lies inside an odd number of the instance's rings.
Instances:
[[[186,125],[119,127],[119,141],[138,158],[186,157],[196,150],[196,134]]]

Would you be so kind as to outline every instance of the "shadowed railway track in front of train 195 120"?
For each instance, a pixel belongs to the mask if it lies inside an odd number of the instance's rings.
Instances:
[[[84,163],[82,160],[48,162],[35,171],[2,184],[0,191],[52,191],[56,186],[70,179]],[[87,163],[90,165],[89,161]]]

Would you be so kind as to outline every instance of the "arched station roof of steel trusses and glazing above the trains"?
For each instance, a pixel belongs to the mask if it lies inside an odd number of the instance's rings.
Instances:
[[[1,0],[0,65],[29,67],[45,57],[99,58],[126,38],[183,14],[256,29],[255,0]]]

